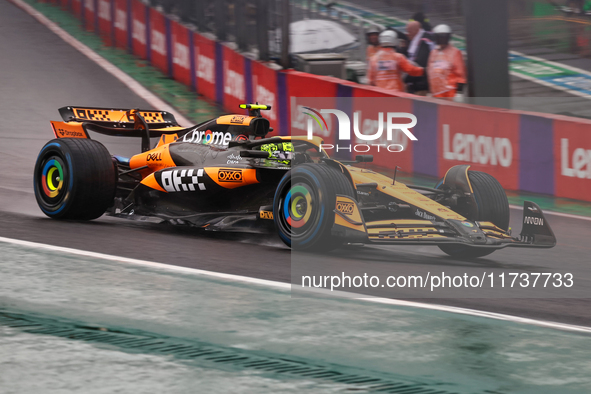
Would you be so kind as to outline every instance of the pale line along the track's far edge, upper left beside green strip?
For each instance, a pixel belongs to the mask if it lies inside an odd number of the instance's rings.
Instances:
[[[92,60],[93,62],[98,64],[100,67],[102,67],[109,74],[113,75],[115,78],[117,78],[123,84],[125,84],[132,92],[134,92],[139,97],[141,97],[143,100],[145,100],[148,104],[150,104],[153,107],[153,109],[158,109],[160,111],[166,111],[166,112],[170,112],[172,114],[175,114],[175,118],[177,119],[179,124],[181,124],[183,126],[190,126],[193,124],[193,122],[191,122],[190,120],[188,120],[184,116],[178,114],[177,110],[174,109],[172,106],[170,106],[169,104],[164,102],[162,99],[157,97],[154,93],[150,92],[145,87],[143,87],[138,81],[131,78],[129,75],[127,75],[126,73],[121,71],[121,69],[117,68],[114,64],[109,62],[107,59],[100,56],[99,54],[94,52],[92,49],[90,49],[89,47],[87,47],[86,45],[84,45],[83,43],[78,41],[76,38],[74,38],[72,35],[70,35],[64,29],[59,27],[56,23],[49,20],[45,15],[43,15],[39,11],[35,10],[33,7],[31,7],[27,3],[23,2],[22,0],[8,0],[8,1],[10,1],[14,5],[16,5],[17,7],[21,8],[23,11],[25,11],[27,14],[31,15],[33,18],[37,19],[37,21],[39,21],[39,23],[41,23],[42,25],[47,27],[49,30],[51,30],[52,32],[57,34],[62,40],[64,40],[65,42],[67,42],[68,44],[70,44],[71,46],[76,48],[84,56],[86,56],[87,58],[89,58],[90,60]],[[73,103],[73,104],[76,104],[76,103]]]

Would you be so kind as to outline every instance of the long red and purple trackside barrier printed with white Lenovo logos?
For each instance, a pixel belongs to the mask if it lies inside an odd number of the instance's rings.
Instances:
[[[67,4],[83,26],[100,34],[108,45],[150,60],[228,111],[236,112],[242,102],[271,104],[267,116],[273,135],[306,133],[300,98],[308,98],[307,106],[345,111],[350,119],[359,111],[368,134],[375,132],[378,112],[410,112],[418,118],[412,130],[418,141],[395,135],[390,143],[405,146],[404,152],[371,152],[376,165],[398,165],[405,172],[442,177],[451,166],[470,164],[494,175],[508,190],[591,201],[591,121],[392,94],[332,77],[276,71],[187,29],[140,0],[53,2]],[[329,102],[320,99],[326,97]],[[368,105],[364,97],[390,99]],[[330,118],[326,116],[329,126],[335,123]],[[321,136],[325,143],[337,144],[332,127],[322,130]],[[354,154],[345,151],[336,156]]]

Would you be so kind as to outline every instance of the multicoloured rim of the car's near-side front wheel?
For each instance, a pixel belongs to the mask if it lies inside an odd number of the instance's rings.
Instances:
[[[293,181],[293,180],[292,180]],[[279,201],[279,225],[292,242],[304,240],[318,225],[318,195],[307,183],[291,183]]]

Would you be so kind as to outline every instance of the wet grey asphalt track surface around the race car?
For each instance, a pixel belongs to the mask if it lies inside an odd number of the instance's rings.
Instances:
[[[291,253],[278,239],[201,234],[195,230],[103,217],[89,223],[46,218],[33,196],[32,173],[41,147],[52,138],[49,120],[64,105],[150,106],[110,74],[20,9],[0,0],[0,236],[289,282]],[[135,139],[98,136],[112,152],[132,155]],[[521,212],[512,210],[516,229]],[[582,297],[591,298],[591,222],[549,217],[559,245],[551,250],[502,250],[474,262],[445,257],[435,247],[345,249],[311,261],[353,269],[391,269],[413,275],[457,267],[548,272],[568,266]],[[314,260],[316,259],[316,260]],[[2,257],[0,256],[0,261]],[[591,325],[590,299],[422,300],[544,320]]]

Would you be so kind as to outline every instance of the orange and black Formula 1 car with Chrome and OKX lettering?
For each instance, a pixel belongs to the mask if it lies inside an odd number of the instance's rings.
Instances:
[[[556,238],[542,210],[524,203],[513,237],[509,204],[490,175],[452,167],[434,188],[405,185],[328,157],[322,139],[266,138],[261,110],[224,115],[189,128],[162,111],[61,108],[55,139],[35,166],[35,196],[55,219],[108,215],[154,217],[206,230],[276,231],[300,250],[345,243],[437,245],[481,257],[506,246],[551,248]],[[89,132],[141,138],[142,153],[111,156]],[[160,138],[154,148],[150,138]]]

